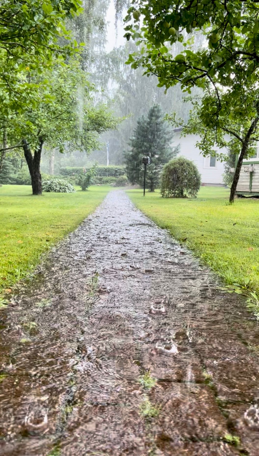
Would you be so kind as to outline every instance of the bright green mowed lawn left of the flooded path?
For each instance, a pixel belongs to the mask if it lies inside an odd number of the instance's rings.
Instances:
[[[31,271],[40,256],[73,231],[111,187],[32,196],[30,186],[0,188],[0,295]]]

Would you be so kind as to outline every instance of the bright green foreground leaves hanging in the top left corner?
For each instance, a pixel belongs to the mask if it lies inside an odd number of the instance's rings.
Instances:
[[[36,103],[31,71],[41,74],[79,51],[66,20],[82,8],[78,0],[3,0],[0,8],[0,114],[7,116]]]

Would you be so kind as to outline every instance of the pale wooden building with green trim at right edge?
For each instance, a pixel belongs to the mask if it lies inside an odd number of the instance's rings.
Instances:
[[[259,195],[259,143],[253,157],[242,163],[237,185],[237,195]]]

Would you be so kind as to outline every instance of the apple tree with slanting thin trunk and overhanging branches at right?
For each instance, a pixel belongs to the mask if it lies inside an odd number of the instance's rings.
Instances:
[[[136,12],[138,14],[136,14]],[[126,38],[138,51],[127,64],[144,67],[165,89],[181,84],[193,101],[189,131],[202,136],[202,152],[228,145],[239,153],[230,200],[233,201],[243,158],[258,140],[259,3],[240,0],[138,0],[125,18]],[[203,44],[195,50],[196,36]],[[175,55],[174,46],[182,51]],[[176,120],[176,119],[174,119]],[[230,139],[229,139],[230,138]],[[220,156],[220,154],[219,154]],[[222,157],[221,157],[222,158]]]

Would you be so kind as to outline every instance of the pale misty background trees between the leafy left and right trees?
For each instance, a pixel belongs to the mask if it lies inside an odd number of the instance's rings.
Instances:
[[[133,41],[123,38],[123,17],[127,0],[84,0],[84,13],[71,23],[78,41],[83,41],[83,67],[90,75],[96,88],[95,98],[106,102],[114,114],[124,120],[117,130],[101,136],[102,148],[90,155],[74,151],[72,154],[45,150],[42,171],[57,174],[61,166],[88,166],[95,162],[106,164],[106,143],[109,141],[109,164],[122,165],[124,151],[129,149],[129,139],[133,134],[137,119],[146,115],[153,104],[160,104],[164,113],[176,111],[187,119],[190,102],[183,103],[180,85],[166,93],[157,87],[156,76],[142,76],[143,68],[133,70],[125,65],[129,53],[135,51]],[[197,36],[198,47],[202,37]],[[174,52],[182,49],[177,43]],[[78,92],[80,105],[80,91]]]

